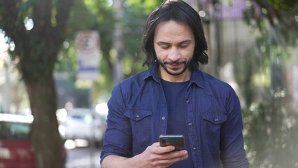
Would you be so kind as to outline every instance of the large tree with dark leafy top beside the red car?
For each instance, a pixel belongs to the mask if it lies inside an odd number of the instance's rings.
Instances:
[[[72,3],[73,0],[0,1],[0,29],[5,31],[8,42],[15,44],[10,55],[18,62],[34,116],[31,139],[37,167],[64,167],[52,72]],[[26,29],[24,20],[33,20],[34,27]]]

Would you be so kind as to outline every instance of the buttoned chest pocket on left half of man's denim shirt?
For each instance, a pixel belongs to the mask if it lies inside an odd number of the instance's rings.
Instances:
[[[147,145],[150,141],[152,125],[152,110],[150,109],[126,109],[125,116],[129,118],[132,128],[134,145]]]

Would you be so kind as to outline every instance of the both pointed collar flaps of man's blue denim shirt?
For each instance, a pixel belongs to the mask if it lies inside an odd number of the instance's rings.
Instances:
[[[153,80],[160,82],[158,67],[159,65],[157,63],[153,64],[150,67],[150,69],[148,69],[147,73],[144,75],[143,80],[152,76]],[[194,70],[192,71],[192,76],[190,77],[190,85],[194,83],[195,85],[204,88],[204,79],[204,73],[202,73],[199,70]]]

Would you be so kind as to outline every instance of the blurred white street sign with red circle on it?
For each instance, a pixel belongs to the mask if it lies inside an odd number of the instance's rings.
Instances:
[[[76,34],[78,79],[97,80],[99,76],[99,34],[97,31],[79,31]]]

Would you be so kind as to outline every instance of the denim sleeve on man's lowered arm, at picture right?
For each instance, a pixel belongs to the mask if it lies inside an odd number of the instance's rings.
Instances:
[[[226,100],[227,122],[222,126],[220,134],[220,158],[225,168],[246,168],[249,162],[243,146],[243,122],[239,98],[230,89]]]

